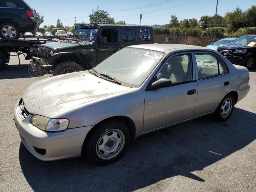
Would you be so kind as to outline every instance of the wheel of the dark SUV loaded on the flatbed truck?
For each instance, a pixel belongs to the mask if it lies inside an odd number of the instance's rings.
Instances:
[[[20,30],[13,23],[3,23],[0,25],[0,37],[2,39],[18,39],[20,38]]]

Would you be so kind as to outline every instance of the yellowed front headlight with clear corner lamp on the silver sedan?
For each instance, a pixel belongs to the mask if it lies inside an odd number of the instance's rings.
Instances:
[[[63,131],[68,128],[68,119],[50,119],[40,115],[32,117],[32,124],[43,131]]]

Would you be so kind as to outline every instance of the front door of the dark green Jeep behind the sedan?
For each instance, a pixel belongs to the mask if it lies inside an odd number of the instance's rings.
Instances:
[[[118,28],[103,28],[100,37],[106,37],[106,44],[98,44],[97,46],[97,62],[100,63],[108,56],[120,50],[118,42]]]

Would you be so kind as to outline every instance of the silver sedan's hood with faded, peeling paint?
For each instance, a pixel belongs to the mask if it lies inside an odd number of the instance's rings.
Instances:
[[[35,82],[26,88],[22,99],[31,114],[51,118],[74,106],[129,89],[82,71]]]

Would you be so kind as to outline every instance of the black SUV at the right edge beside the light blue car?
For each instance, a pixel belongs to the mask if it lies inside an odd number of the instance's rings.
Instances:
[[[244,35],[229,45],[218,47],[217,51],[232,64],[252,69],[256,65],[256,35]]]

